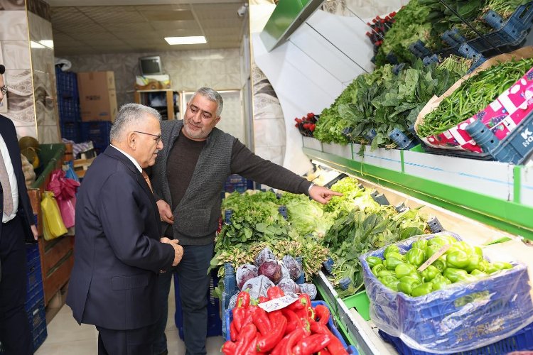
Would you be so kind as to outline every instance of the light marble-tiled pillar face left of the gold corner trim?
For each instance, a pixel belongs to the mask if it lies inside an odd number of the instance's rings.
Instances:
[[[0,0],[0,60],[6,66],[7,113],[18,136],[37,136],[33,111],[28,17],[21,0]]]

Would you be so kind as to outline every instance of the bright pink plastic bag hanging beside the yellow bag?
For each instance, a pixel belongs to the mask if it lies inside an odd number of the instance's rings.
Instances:
[[[80,182],[65,178],[63,170],[54,170],[46,190],[51,191],[58,201],[63,223],[67,228],[74,226],[76,191]]]

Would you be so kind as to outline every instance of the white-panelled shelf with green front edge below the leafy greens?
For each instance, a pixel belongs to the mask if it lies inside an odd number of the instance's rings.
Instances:
[[[386,150],[360,156],[352,143],[330,153],[313,138],[303,140],[303,153],[340,172],[404,192],[438,207],[533,239],[533,168],[416,151]],[[334,146],[334,145],[329,145]]]

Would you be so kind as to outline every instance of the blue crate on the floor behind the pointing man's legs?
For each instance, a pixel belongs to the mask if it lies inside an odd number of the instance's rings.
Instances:
[[[208,294],[208,337],[217,337],[222,335],[222,320],[220,319],[219,301],[212,296],[214,288],[218,285],[217,272],[211,272],[211,280]],[[181,310],[180,289],[178,283],[178,274],[174,274],[174,295],[176,298],[176,312],[174,313],[174,322],[180,338],[183,339],[183,312]]]

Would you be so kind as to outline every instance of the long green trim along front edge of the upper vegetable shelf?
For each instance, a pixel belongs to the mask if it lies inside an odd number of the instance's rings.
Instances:
[[[533,207],[517,202],[500,200],[495,197],[463,190],[419,178],[399,171],[360,163],[333,154],[303,148],[310,158],[316,159],[344,173],[359,175],[378,185],[392,188],[407,195],[463,214],[479,222],[494,226],[502,231],[519,234],[533,240]],[[516,190],[515,190],[516,192]]]

